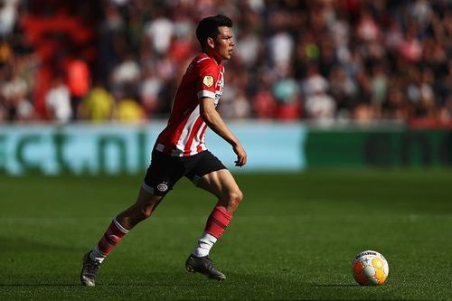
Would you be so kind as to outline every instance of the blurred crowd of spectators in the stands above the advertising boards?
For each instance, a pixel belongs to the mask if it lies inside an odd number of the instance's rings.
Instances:
[[[165,118],[226,14],[227,119],[452,127],[450,0],[0,0],[0,122]]]

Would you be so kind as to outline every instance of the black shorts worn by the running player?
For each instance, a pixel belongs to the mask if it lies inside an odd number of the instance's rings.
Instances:
[[[204,174],[221,169],[226,167],[209,151],[191,156],[173,156],[153,150],[142,187],[148,193],[165,195],[183,176],[196,185]]]

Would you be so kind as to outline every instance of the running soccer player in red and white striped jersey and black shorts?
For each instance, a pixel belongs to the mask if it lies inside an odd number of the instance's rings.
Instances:
[[[84,286],[95,285],[102,261],[129,230],[151,216],[183,176],[218,199],[185,268],[212,279],[226,278],[213,266],[209,252],[229,225],[243,193],[229,170],[207,150],[204,135],[210,127],[232,146],[237,155],[236,166],[247,163],[245,149],[215,108],[224,87],[222,61],[231,59],[234,48],[231,27],[231,19],[221,14],[206,17],[198,24],[196,37],[202,52],[188,66],[176,92],[168,124],[155,141],[137,202],[119,213],[97,246],[85,254],[80,273]]]

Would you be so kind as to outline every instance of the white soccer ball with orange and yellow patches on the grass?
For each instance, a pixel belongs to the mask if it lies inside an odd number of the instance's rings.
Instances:
[[[390,272],[388,261],[373,250],[365,250],[353,260],[353,277],[362,286],[381,285]]]

